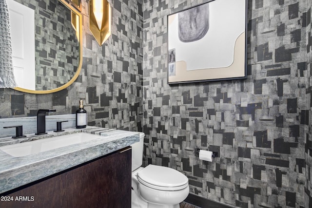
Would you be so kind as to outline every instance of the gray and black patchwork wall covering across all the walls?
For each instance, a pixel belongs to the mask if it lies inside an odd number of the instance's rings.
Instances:
[[[242,208],[311,206],[311,0],[248,1],[246,80],[169,86],[167,15],[202,2],[109,0],[112,35],[100,47],[82,0],[77,81],[47,95],[0,89],[0,117],[75,113],[83,99],[88,125],[144,131],[144,165],[185,173],[194,194]],[[197,148],[220,157],[201,161]]]

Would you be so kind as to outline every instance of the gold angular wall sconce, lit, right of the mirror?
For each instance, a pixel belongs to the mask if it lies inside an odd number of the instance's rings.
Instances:
[[[92,35],[102,45],[111,35],[111,6],[107,0],[89,1],[89,24]]]

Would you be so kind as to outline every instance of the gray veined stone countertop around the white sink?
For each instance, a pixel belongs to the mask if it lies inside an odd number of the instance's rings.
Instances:
[[[64,132],[49,131],[48,134],[38,136],[33,133],[26,134],[27,137],[21,139],[0,138],[0,146],[5,146],[78,132],[99,135],[97,139],[88,142],[22,157],[13,157],[0,150],[0,193],[70,169],[139,141],[139,132],[91,126],[87,126],[85,129],[69,128],[64,130]]]

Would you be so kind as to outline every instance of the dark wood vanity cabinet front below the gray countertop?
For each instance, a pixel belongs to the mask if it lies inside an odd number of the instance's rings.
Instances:
[[[131,208],[131,148],[13,191],[0,208]]]

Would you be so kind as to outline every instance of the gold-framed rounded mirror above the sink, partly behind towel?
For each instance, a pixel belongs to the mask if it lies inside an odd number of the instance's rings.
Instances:
[[[7,0],[15,90],[48,94],[65,89],[82,66],[82,18],[64,0]]]

